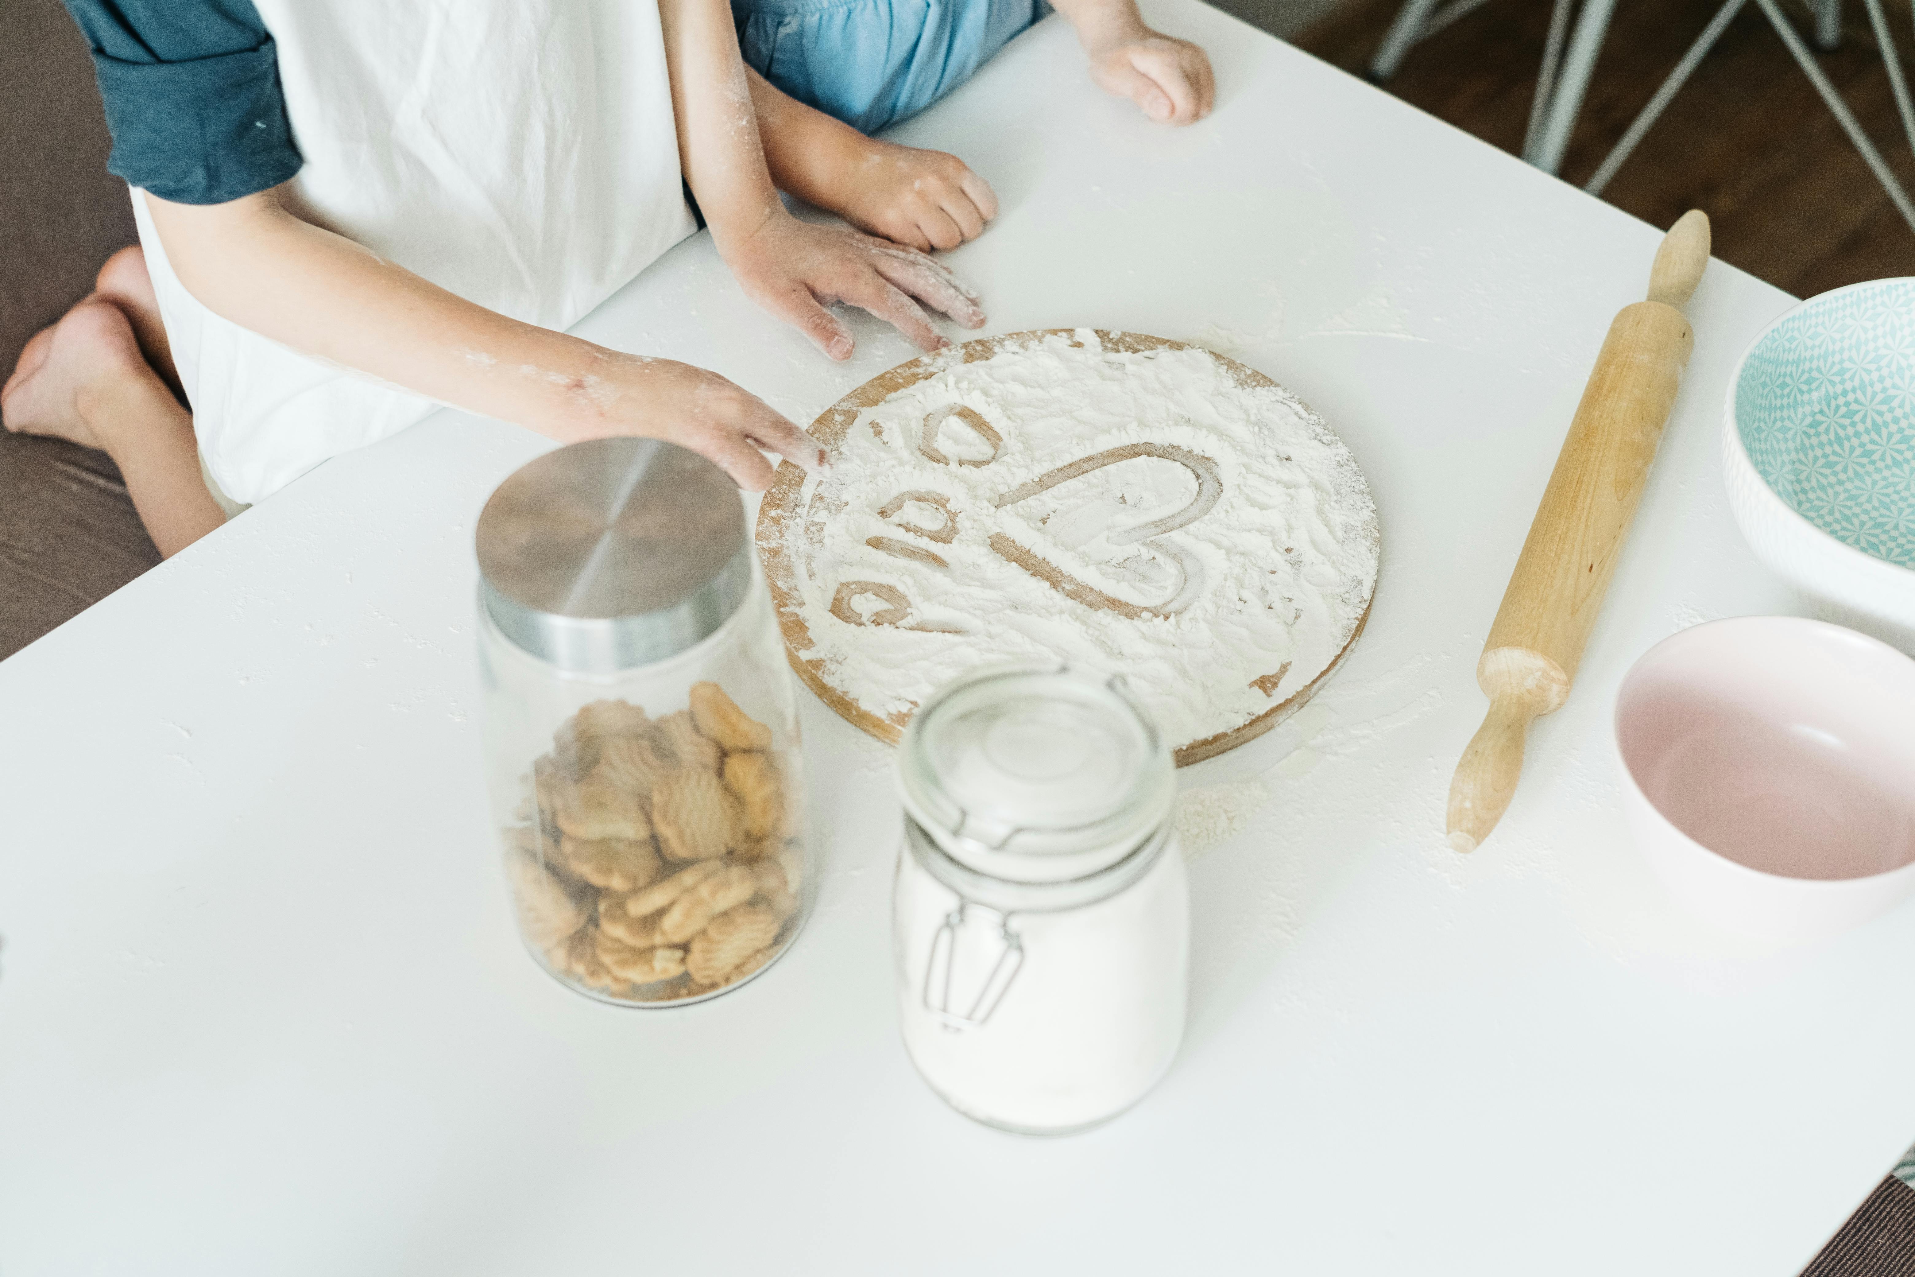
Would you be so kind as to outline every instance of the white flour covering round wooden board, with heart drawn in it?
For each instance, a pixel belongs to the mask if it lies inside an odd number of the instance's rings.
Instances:
[[[1151,528],[1206,500],[1164,456],[1017,496],[1136,444],[1212,461],[1214,507]],[[866,710],[900,722],[977,664],[1063,659],[1126,676],[1172,745],[1239,728],[1321,674],[1377,572],[1369,486],[1321,417],[1206,350],[1107,350],[1090,329],[954,356],[862,410],[785,538],[781,584],[810,634],[797,655]],[[1072,597],[1005,546],[1084,588]]]

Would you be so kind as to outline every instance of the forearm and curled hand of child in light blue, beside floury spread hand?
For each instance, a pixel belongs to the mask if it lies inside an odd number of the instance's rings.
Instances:
[[[777,190],[927,253],[977,239],[998,216],[998,195],[956,155],[866,138],[777,92],[751,67],[745,78]]]

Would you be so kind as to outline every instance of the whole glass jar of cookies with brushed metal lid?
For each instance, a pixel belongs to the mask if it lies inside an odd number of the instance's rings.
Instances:
[[[532,957],[622,1005],[737,988],[810,909],[797,697],[737,488],[605,438],[479,515],[486,785]]]

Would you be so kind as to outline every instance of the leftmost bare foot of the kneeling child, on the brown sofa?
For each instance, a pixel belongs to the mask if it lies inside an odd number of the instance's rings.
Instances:
[[[117,383],[153,381],[132,324],[107,301],[82,301],[59,324],[34,333],[0,389],[0,421],[13,433],[50,435],[105,448],[84,412],[90,396]]]

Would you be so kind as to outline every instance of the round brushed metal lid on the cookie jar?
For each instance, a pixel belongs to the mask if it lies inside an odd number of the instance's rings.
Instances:
[[[584,674],[691,647],[751,586],[737,486],[653,438],[597,438],[521,465],[479,513],[477,549],[500,632]]]

